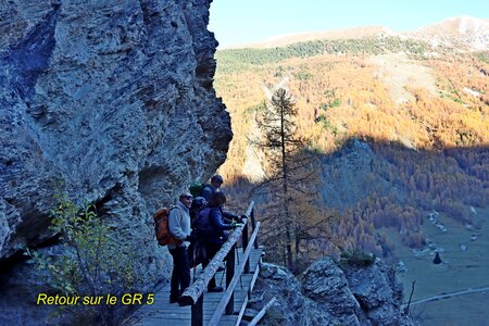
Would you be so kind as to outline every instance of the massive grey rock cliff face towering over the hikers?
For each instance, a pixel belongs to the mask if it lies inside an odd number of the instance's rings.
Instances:
[[[0,259],[52,236],[62,179],[140,243],[148,279],[165,273],[151,213],[209,177],[233,136],[210,2],[1,2]]]

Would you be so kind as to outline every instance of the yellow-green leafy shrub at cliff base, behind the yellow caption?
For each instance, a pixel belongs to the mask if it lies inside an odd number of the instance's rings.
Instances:
[[[57,254],[41,250],[28,250],[30,263],[39,275],[57,292],[65,296],[106,296],[120,298],[135,289],[135,248],[123,240],[97,216],[92,204],[75,204],[65,193],[55,196],[51,211],[51,230],[59,234],[63,250]],[[117,324],[116,305],[79,305],[61,309],[82,312],[84,318],[93,316],[103,325]]]

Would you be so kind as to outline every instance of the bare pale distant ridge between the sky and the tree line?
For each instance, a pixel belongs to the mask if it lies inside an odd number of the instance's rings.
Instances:
[[[469,51],[489,49],[489,20],[459,16],[423,26],[414,32],[394,32],[384,26],[364,26],[338,30],[304,32],[281,35],[268,40],[228,47],[226,49],[266,49],[321,39],[356,39],[365,37],[399,36],[430,42],[434,46],[457,47]]]

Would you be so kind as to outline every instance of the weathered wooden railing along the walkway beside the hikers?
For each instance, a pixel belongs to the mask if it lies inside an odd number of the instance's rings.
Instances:
[[[224,313],[227,315],[234,314],[234,292],[235,288],[238,284],[241,274],[250,273],[250,252],[252,247],[255,249],[259,248],[258,242],[258,233],[260,229],[260,222],[256,223],[254,220],[254,202],[251,202],[247,210],[247,218],[243,218],[243,225],[237,227],[233,234],[229,236],[228,240],[223,244],[221,250],[214,255],[212,261],[205,267],[202,273],[202,276],[193,281],[191,286],[189,286],[184,293],[181,294],[178,302],[181,305],[192,305],[192,316],[191,316],[191,325],[192,326],[202,326],[203,325],[203,292],[208,288],[209,281],[214,277],[217,268],[221,266],[221,263],[226,258],[226,292],[222,298],[220,304],[217,305],[209,325],[217,325],[218,321],[223,316]],[[248,236],[248,222],[251,220],[252,235],[249,238]],[[241,237],[242,239],[242,249],[244,251],[242,255],[242,260],[235,271],[235,251],[236,243],[238,239]]]

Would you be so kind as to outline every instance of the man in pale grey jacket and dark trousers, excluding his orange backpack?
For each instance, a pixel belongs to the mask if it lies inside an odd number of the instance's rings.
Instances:
[[[173,258],[173,273],[170,289],[170,303],[175,303],[190,285],[190,267],[187,258],[187,247],[192,239],[190,236],[189,209],[192,204],[192,196],[188,191],[180,193],[176,208],[170,211],[168,229],[178,240],[178,244],[168,244],[170,254]]]

